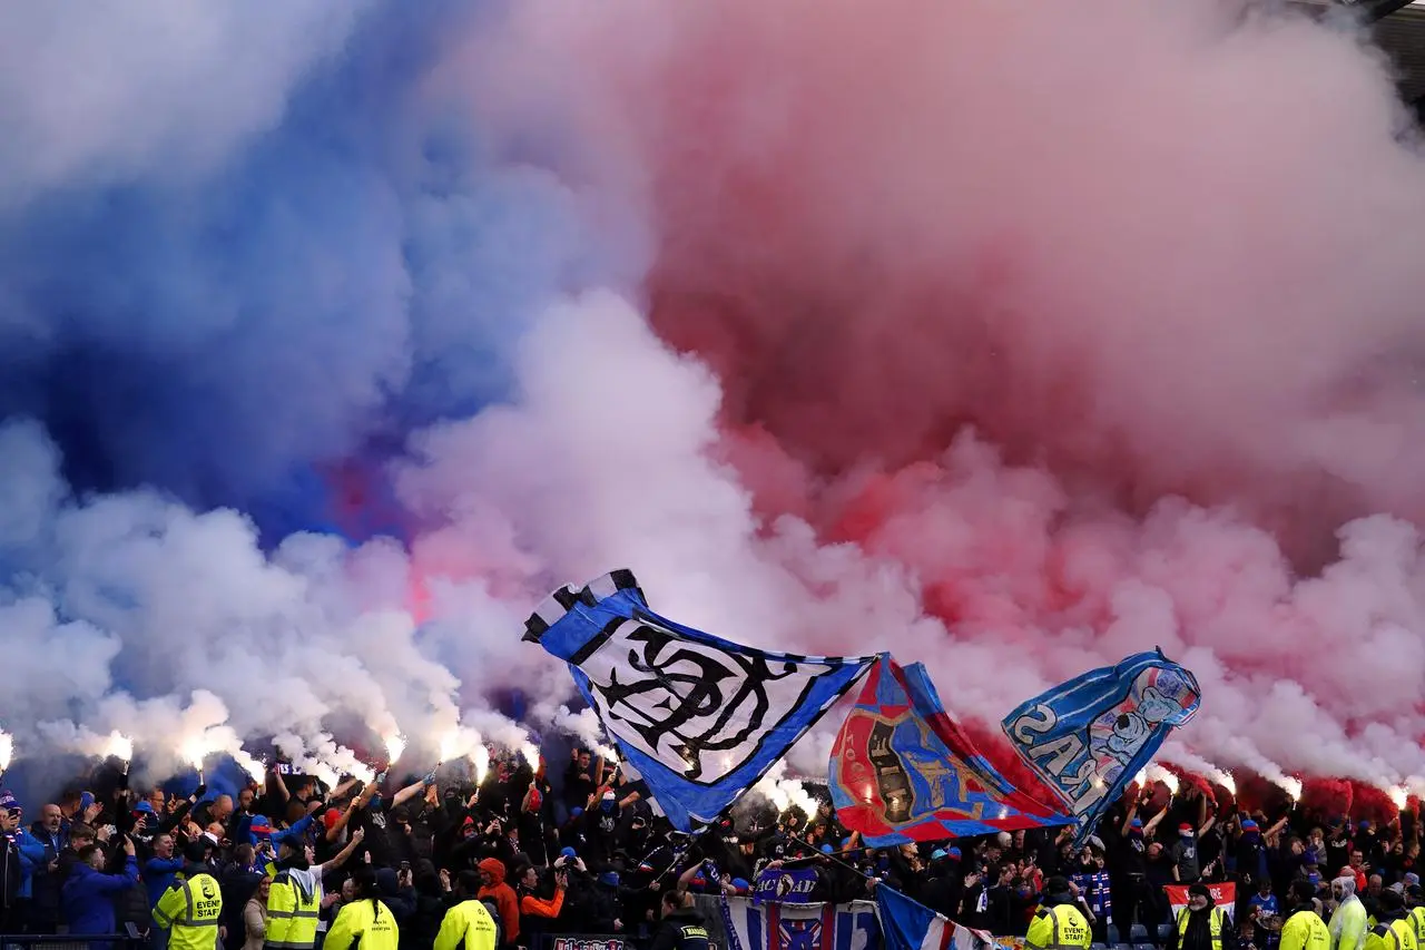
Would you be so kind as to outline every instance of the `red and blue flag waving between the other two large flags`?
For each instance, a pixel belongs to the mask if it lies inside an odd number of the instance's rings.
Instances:
[[[940,705],[921,663],[871,670],[831,750],[836,817],[872,847],[1067,824],[1006,780]]]

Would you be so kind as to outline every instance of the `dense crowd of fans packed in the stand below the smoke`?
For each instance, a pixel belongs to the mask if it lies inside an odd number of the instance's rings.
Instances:
[[[326,950],[359,940],[341,923],[353,904],[369,907],[363,920],[385,910],[400,950],[456,950],[442,927],[469,902],[487,909],[499,947],[606,934],[668,950],[684,946],[670,927],[705,916],[708,904],[693,896],[748,894],[764,872],[794,869],[807,872],[801,896],[811,902],[869,899],[884,883],[1005,937],[1023,936],[1046,884],[1066,880],[1094,940],[1176,950],[1166,884],[1237,883],[1227,950],[1274,947],[1302,896],[1330,919],[1347,896],[1337,879],[1349,877],[1377,919],[1419,902],[1419,824],[1408,816],[1378,827],[1297,809],[1218,812],[1194,789],[1163,797],[1120,802],[1083,847],[1072,829],[1056,827],[868,849],[825,799],[811,816],[744,805],[698,836],[677,834],[641,785],[581,749],[557,776],[496,759],[477,786],[426,776],[399,789],[382,780],[326,789],[274,770],[237,796],[200,787],[175,797],[137,795],[120,780],[98,797],[76,790],[43,805],[33,823],[13,796],[0,796],[0,934],[137,933],[155,950],[181,950],[164,924],[182,914],[182,902],[162,904],[197,874],[221,889],[215,923],[227,950],[304,946],[272,937],[301,916],[275,910],[276,890],[294,877],[315,882],[315,943],[325,936]]]

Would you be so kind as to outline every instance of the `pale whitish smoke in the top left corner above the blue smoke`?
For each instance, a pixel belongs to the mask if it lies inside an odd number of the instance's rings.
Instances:
[[[0,210],[56,185],[201,171],[281,118],[375,0],[0,9]]]

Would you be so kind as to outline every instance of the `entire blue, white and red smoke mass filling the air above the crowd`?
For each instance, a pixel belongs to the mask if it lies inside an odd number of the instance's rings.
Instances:
[[[517,742],[530,606],[628,566],[970,720],[1160,645],[1180,762],[1425,775],[1425,160],[1349,29],[150,0],[0,63],[21,755]]]

